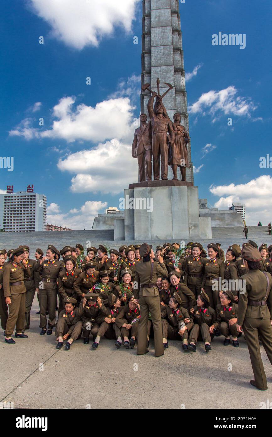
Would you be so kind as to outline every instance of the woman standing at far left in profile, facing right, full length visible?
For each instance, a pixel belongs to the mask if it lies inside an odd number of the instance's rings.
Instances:
[[[10,262],[4,268],[3,289],[6,304],[9,305],[9,315],[6,325],[5,342],[15,343],[11,338],[16,326],[15,337],[28,338],[22,331],[25,318],[26,288],[24,277],[30,275],[29,267],[23,259],[23,249],[18,247],[10,255]]]

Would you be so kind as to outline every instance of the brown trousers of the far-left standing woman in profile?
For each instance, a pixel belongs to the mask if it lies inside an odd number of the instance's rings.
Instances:
[[[22,332],[24,329],[24,317],[25,317],[25,295],[24,293],[18,293],[17,295],[11,295],[11,304],[9,305],[9,314],[6,325],[6,336],[9,337],[13,334],[16,326],[16,332]]]

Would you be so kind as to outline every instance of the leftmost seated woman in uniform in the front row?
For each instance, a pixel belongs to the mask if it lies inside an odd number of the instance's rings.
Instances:
[[[86,299],[83,299],[82,305],[85,305]],[[65,309],[59,313],[59,319],[56,326],[56,340],[59,342],[56,346],[60,349],[63,346],[63,341],[69,340],[65,344],[65,349],[69,350],[74,340],[81,336],[82,321],[79,308],[75,308],[77,300],[72,297],[64,298]]]

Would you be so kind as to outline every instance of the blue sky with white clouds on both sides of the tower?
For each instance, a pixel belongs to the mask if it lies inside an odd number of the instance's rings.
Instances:
[[[186,81],[195,185],[220,209],[245,203],[248,225],[272,220],[271,169],[259,166],[272,156],[271,13],[269,0],[180,4],[185,70],[196,72]],[[0,17],[1,155],[14,156],[0,189],[34,184],[52,204],[48,222],[90,229],[137,180],[141,1],[14,0]],[[220,31],[245,34],[245,49],[213,46]]]

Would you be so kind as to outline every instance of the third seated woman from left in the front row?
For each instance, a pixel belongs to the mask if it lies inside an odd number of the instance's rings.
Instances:
[[[92,344],[93,349],[97,349],[100,343],[100,338],[105,336],[109,340],[116,339],[115,346],[117,349],[121,347],[122,337],[120,328],[115,323],[116,318],[120,312],[121,302],[118,296],[110,293],[107,306],[107,317],[104,317],[104,321],[99,326],[96,339]]]

